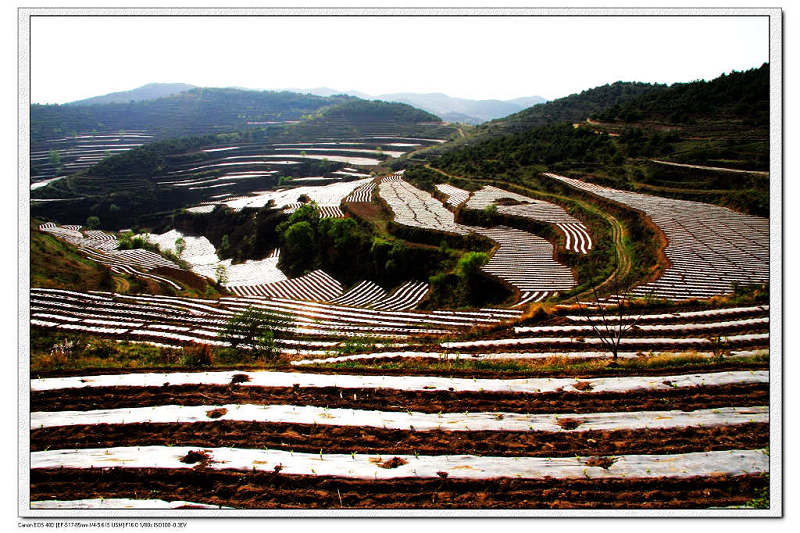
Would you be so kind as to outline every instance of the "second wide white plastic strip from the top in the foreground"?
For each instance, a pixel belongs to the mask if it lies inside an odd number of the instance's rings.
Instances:
[[[224,414],[209,412],[225,409]],[[558,424],[560,418],[580,422],[573,429]],[[325,426],[356,426],[430,431],[616,431],[667,429],[689,426],[731,426],[769,422],[768,408],[721,407],[696,411],[635,411],[610,413],[520,414],[505,412],[415,413],[363,409],[328,409],[311,405],[159,405],[94,411],[39,411],[31,413],[31,428],[83,424],[185,424],[234,420]]]

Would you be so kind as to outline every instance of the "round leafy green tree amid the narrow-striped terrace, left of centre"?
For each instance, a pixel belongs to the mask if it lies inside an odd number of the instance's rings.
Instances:
[[[250,349],[258,359],[272,360],[279,355],[275,338],[291,326],[292,319],[285,313],[250,306],[233,315],[218,338],[234,349]]]

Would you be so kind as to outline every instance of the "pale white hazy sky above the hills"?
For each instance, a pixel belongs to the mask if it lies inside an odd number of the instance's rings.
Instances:
[[[552,99],[768,60],[767,17],[33,17],[31,101],[151,82]]]

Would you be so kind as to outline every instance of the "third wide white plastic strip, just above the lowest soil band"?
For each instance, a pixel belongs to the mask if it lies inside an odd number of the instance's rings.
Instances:
[[[595,479],[658,478],[710,475],[760,474],[769,471],[769,456],[761,450],[725,450],[674,455],[616,456],[607,469],[587,466],[587,457],[491,457],[474,455],[311,454],[282,450],[141,446],[84,450],[48,450],[31,453],[31,468],[193,468],[181,461],[190,451],[203,450],[209,469],[273,472],[281,474],[338,476],[359,479],[449,478],[487,479]],[[396,468],[382,468],[382,461],[398,457]]]

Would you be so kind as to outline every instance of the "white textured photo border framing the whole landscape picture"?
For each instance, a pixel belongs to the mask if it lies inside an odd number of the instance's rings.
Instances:
[[[68,16],[765,16],[770,63],[770,508],[666,510],[56,510],[30,508],[30,21]],[[783,516],[783,12],[780,8],[19,8],[18,513],[25,518],[694,517]]]

